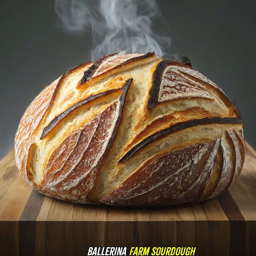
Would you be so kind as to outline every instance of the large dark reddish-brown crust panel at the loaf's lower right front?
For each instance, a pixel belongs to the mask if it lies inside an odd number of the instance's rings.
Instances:
[[[214,143],[184,145],[146,161],[117,189],[106,195],[102,202],[111,205],[148,206],[197,199],[208,178],[202,169]]]

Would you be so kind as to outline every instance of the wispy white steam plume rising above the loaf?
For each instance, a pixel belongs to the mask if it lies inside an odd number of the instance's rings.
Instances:
[[[170,48],[170,38],[152,30],[156,0],[55,0],[54,9],[68,31],[89,36],[91,29],[92,61],[121,50],[163,56]]]

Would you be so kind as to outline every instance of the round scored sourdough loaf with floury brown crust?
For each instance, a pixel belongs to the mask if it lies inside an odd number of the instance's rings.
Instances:
[[[27,108],[15,160],[34,189],[66,201],[202,201],[241,172],[240,113],[191,67],[120,52],[67,71]]]

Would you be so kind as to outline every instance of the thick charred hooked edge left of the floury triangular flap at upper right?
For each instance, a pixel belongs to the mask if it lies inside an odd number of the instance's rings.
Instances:
[[[150,89],[150,96],[149,100],[147,102],[147,108],[148,109],[153,109],[155,105],[158,103],[158,95],[159,95],[159,89],[162,81],[162,75],[163,71],[165,71],[166,67],[168,66],[180,66],[180,67],[186,67],[185,65],[175,62],[175,61],[170,61],[168,59],[165,59],[161,62],[158,63],[157,67],[155,68],[154,74],[153,74],[153,82],[152,82],[152,87]]]

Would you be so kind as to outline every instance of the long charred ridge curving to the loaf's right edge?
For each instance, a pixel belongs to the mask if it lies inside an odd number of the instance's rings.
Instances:
[[[150,143],[157,141],[158,139],[167,136],[169,134],[175,133],[177,131],[181,131],[186,128],[190,128],[193,126],[198,125],[207,125],[207,124],[213,124],[213,123],[243,123],[241,118],[235,117],[235,118],[221,118],[221,117],[213,117],[213,118],[203,118],[203,119],[194,119],[186,122],[180,122],[176,125],[172,125],[164,130],[158,131],[157,133],[154,133],[150,135],[149,137],[143,139],[143,141],[139,142],[137,145],[135,145],[132,149],[130,149],[119,161],[118,163],[125,162],[127,159],[132,157],[136,152],[144,148],[145,146],[149,145]]]

